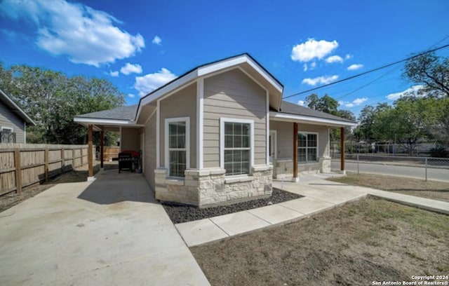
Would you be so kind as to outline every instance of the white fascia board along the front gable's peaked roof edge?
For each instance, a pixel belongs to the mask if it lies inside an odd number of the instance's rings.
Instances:
[[[236,57],[234,59],[225,60],[223,62],[217,62],[215,64],[209,64],[206,67],[200,67],[198,69],[198,76],[206,76],[207,74],[213,73],[215,71],[219,71],[220,69],[227,69],[228,67],[233,67],[243,62],[247,62],[253,69],[255,69],[259,74],[261,74],[264,79],[266,79],[276,90],[279,90],[282,93],[282,86],[277,83],[272,76],[267,74],[267,71],[264,71],[259,64],[255,63],[250,57],[246,55],[242,55],[241,57]]]

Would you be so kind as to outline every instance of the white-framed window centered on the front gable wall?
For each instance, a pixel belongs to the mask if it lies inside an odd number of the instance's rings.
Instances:
[[[253,165],[254,121],[220,119],[220,165],[226,175],[249,174]]]

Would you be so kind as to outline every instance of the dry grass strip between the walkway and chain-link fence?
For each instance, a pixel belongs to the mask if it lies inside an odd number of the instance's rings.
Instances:
[[[370,175],[348,173],[346,177],[329,179],[333,182],[351,184],[356,186],[368,186],[370,188],[394,193],[403,193],[410,196],[431,198],[449,202],[449,183],[427,181],[422,179],[409,179],[384,175]]]

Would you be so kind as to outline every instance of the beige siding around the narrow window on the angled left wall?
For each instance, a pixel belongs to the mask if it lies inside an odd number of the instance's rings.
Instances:
[[[165,165],[164,136],[166,118],[190,118],[190,168],[196,168],[196,83],[161,100],[161,166]]]

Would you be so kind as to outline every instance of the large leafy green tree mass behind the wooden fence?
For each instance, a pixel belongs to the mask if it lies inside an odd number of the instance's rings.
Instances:
[[[123,93],[105,79],[69,78],[61,72],[26,65],[4,69],[0,64],[0,88],[36,122],[27,130],[30,143],[84,144],[86,128],[74,123],[74,116],[119,107],[124,102]],[[107,132],[105,143],[116,142],[116,137]],[[95,135],[94,143],[98,142]]]

